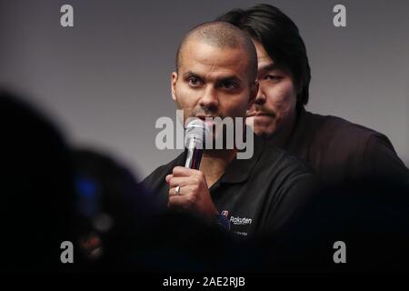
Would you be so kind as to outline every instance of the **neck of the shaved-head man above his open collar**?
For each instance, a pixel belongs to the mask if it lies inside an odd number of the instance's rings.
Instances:
[[[205,174],[209,188],[224,175],[225,168],[233,161],[236,153],[236,149],[208,150],[203,153],[200,171]]]

